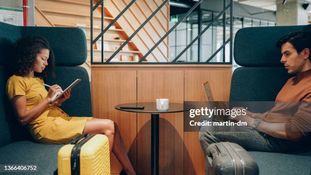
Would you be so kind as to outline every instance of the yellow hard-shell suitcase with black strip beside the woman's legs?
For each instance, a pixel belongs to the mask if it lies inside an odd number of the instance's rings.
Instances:
[[[59,175],[110,174],[109,142],[103,134],[82,134],[61,147],[57,156]]]

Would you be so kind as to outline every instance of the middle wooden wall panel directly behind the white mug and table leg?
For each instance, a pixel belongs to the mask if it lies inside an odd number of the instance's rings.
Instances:
[[[168,98],[183,102],[183,70],[138,70],[137,101],[155,102]],[[160,174],[182,174],[183,120],[181,113],[160,114]],[[148,133],[148,134],[146,134]],[[138,174],[150,174],[150,114],[137,116]]]

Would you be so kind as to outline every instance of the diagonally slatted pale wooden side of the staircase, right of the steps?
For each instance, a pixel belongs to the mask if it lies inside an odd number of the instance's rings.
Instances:
[[[117,16],[131,0],[106,1],[105,13]],[[163,1],[136,1],[128,11],[118,19],[118,24],[130,36],[157,9]],[[132,39],[137,48],[145,54],[169,30],[169,8],[165,6]],[[168,38],[147,57],[148,62],[168,62]]]

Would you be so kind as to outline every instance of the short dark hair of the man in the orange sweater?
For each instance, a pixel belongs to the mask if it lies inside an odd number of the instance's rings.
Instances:
[[[276,47],[280,48],[286,42],[291,43],[300,53],[303,49],[308,48],[311,51],[311,31],[297,31],[280,38],[276,42]],[[311,55],[309,55],[309,61],[311,61]]]

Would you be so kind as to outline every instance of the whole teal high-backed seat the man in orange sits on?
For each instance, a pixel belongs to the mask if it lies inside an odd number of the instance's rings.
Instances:
[[[235,35],[234,60],[242,66],[232,75],[230,101],[274,101],[291,77],[281,64],[276,41],[291,32],[311,30],[311,25],[242,28]],[[311,174],[309,152],[281,154],[249,152],[260,174]]]

